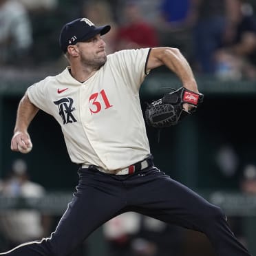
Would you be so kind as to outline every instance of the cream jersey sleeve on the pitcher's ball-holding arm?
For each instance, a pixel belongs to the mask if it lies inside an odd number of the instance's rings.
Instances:
[[[49,103],[50,97],[47,93],[47,85],[50,78],[45,78],[38,83],[34,83],[27,89],[28,98],[39,109],[45,111],[47,114],[51,114],[51,104]]]

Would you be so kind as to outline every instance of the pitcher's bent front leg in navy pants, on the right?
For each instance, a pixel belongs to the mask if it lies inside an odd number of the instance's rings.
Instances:
[[[140,213],[204,233],[209,237],[217,255],[249,255],[248,250],[233,235],[219,207],[168,175],[160,171],[149,171],[134,178],[134,182],[130,180],[130,183],[136,184],[138,188],[133,195],[133,202],[141,206],[141,209],[138,208]]]

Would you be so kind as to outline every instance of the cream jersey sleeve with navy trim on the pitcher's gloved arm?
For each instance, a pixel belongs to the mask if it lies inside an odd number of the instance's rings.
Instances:
[[[122,50],[113,54],[111,63],[118,64],[115,67],[122,78],[128,82],[135,92],[138,92],[140,85],[144,81],[147,74],[147,60],[149,58],[150,48],[142,48],[137,50]],[[117,63],[116,63],[117,62]]]

